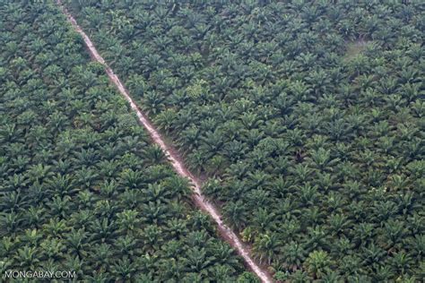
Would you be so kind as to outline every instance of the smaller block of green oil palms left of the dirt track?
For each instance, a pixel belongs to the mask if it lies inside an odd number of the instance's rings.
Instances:
[[[55,4],[0,3],[0,273],[252,279]]]

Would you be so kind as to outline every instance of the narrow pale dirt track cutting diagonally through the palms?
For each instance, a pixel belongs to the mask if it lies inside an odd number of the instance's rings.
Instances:
[[[57,0],[56,3],[61,7],[62,12],[65,13],[68,21],[74,26],[74,29],[82,36],[84,39],[84,43],[88,48],[91,57],[93,60],[96,60],[100,64],[105,66],[106,73],[108,74],[109,79],[117,86],[117,89],[121,93],[121,95],[128,101],[130,107],[137,114],[139,121],[143,124],[144,128],[151,135],[152,141],[157,143],[160,146],[160,149],[164,152],[167,159],[171,163],[172,167],[176,170],[179,176],[183,176],[189,179],[192,184],[193,195],[192,198],[198,208],[204,210],[204,212],[208,213],[212,219],[215,221],[215,224],[219,230],[219,233],[223,239],[225,239],[236,251],[239,255],[244,259],[247,268],[256,273],[259,279],[263,282],[273,282],[273,279],[269,272],[264,268],[260,267],[251,257],[249,253],[249,248],[243,244],[239,237],[233,232],[230,227],[223,223],[221,220],[220,212],[215,208],[215,206],[208,202],[208,200],[204,197],[201,192],[201,181],[199,178],[195,177],[190,173],[187,168],[184,166],[183,160],[180,158],[176,150],[173,150],[171,146],[166,144],[158,130],[153,126],[151,121],[143,114],[141,109],[135,104],[134,100],[128,94],[128,91],[124,87],[123,83],[118,79],[117,75],[112,71],[112,69],[106,64],[105,60],[100,56],[96,48],[94,47],[91,39],[85,34],[85,32],[81,29],[78,23],[75,21],[74,17],[68,13],[65,9],[64,5],[60,0]]]

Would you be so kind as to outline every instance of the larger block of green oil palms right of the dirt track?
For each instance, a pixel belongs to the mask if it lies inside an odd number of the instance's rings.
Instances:
[[[276,279],[424,277],[420,1],[65,1]]]

